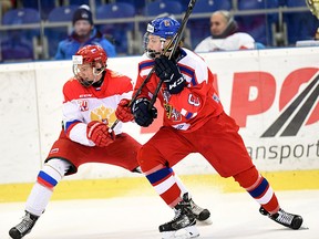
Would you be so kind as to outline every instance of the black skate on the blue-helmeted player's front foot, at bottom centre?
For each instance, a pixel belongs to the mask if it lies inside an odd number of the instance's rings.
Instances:
[[[183,201],[178,202],[175,208],[175,217],[158,227],[162,233],[162,239],[178,238],[178,232],[182,229],[186,230],[187,238],[195,238],[199,236],[196,228],[196,216],[192,212],[191,199],[188,194],[183,196]]]

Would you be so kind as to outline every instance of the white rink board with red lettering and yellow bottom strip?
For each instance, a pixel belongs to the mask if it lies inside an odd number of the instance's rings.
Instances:
[[[319,188],[319,48],[200,55],[216,75],[215,87],[225,112],[240,126],[254,164],[269,175],[274,187]],[[140,56],[114,58],[107,64],[134,81],[138,60]],[[71,61],[0,65],[0,201],[27,198],[60,133],[62,85],[70,76]],[[280,125],[278,118],[291,107],[290,116]],[[152,127],[125,124],[123,131],[143,144],[156,132],[162,116],[158,108],[158,118]],[[297,123],[297,128],[289,127],[291,123]],[[274,125],[280,127],[269,134]],[[202,181],[212,181],[214,188],[238,190],[233,179],[220,179],[200,155],[181,162],[176,173],[187,178],[188,184],[200,186]],[[55,188],[53,198],[113,197],[141,188],[145,188],[141,190],[144,193],[151,190],[147,184],[142,176],[119,167],[86,164]]]

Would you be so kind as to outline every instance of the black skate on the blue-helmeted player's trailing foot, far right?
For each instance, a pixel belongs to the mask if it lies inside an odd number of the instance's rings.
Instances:
[[[302,225],[301,216],[286,212],[281,208],[275,215],[270,215],[263,207],[260,207],[259,211],[261,215],[268,216],[271,220],[294,230],[298,230]]]

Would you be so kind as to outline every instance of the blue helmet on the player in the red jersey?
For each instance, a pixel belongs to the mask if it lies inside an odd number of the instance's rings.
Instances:
[[[160,38],[167,39],[173,38],[178,31],[181,24],[173,18],[164,17],[157,18],[147,24],[146,32],[158,35]]]

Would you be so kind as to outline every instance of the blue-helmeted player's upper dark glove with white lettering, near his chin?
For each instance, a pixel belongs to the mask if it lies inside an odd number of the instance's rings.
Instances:
[[[179,67],[174,60],[161,55],[155,59],[155,74],[165,82],[171,94],[178,94],[185,87],[186,80],[179,72]]]

